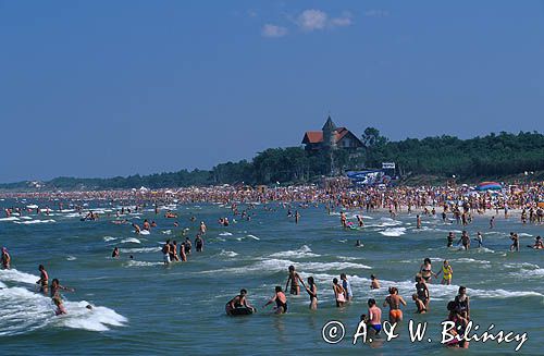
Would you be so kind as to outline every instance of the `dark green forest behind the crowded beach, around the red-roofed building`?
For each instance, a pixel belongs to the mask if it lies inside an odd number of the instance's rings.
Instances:
[[[347,170],[380,168],[396,162],[398,173],[457,175],[460,179],[504,176],[544,170],[544,135],[502,132],[460,139],[453,136],[407,138],[391,142],[374,127],[361,135],[363,149],[348,155],[338,149],[307,151],[301,147],[269,148],[251,161],[226,162],[210,171],[181,170],[151,175],[111,179],[57,177],[46,189],[118,189],[177,187],[215,184],[275,184],[314,182],[323,175]],[[29,188],[29,182],[0,184],[2,189]]]

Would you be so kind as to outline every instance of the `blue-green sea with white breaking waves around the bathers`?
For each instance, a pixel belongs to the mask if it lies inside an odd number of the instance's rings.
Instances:
[[[81,201],[83,204],[83,201]],[[0,218],[0,245],[12,256],[12,269],[0,270],[0,354],[2,355],[166,355],[166,354],[452,354],[440,343],[441,321],[447,317],[446,303],[459,285],[468,287],[471,316],[480,330],[495,324],[495,331],[528,333],[520,354],[542,354],[544,318],[544,251],[532,250],[534,236],[543,226],[522,225],[517,219],[498,216],[496,228],[489,218],[475,217],[468,232],[484,235],[484,248],[465,251],[446,248],[446,235],[462,230],[440,218],[423,217],[417,230],[415,214],[400,212],[391,219],[384,212],[348,211],[364,217],[366,226],[345,231],[338,212],[327,214],[323,206],[299,209],[295,224],[279,204],[256,205],[251,221],[233,217],[228,206],[172,205],[173,219],[159,214],[149,205],[138,213],[123,218],[141,225],[144,219],[157,221],[149,235],[136,235],[129,224],[116,225],[114,212],[122,202],[85,201],[101,213],[98,221],[81,221],[79,214],[64,202],[40,200],[0,200],[0,207],[49,205],[49,216],[36,212],[24,217]],[[124,202],[131,205],[132,202]],[[240,205],[242,211],[245,205]],[[111,214],[111,217],[108,217]],[[194,214],[196,221],[189,218]],[[221,226],[218,219],[237,222]],[[188,256],[187,262],[164,267],[160,246],[166,238],[182,241],[183,229],[194,240],[200,221],[208,225],[202,253]],[[509,253],[510,231],[521,236],[521,251]],[[361,240],[363,247],[355,247]],[[474,244],[473,244],[474,245]],[[112,259],[113,247],[121,257]],[[133,259],[129,259],[133,255]],[[443,259],[454,269],[453,285],[432,283],[431,311],[416,315],[411,294],[413,277],[423,258],[430,257],[438,271]],[[67,315],[55,317],[49,297],[39,294],[35,282],[44,263],[50,279],[74,287],[64,292]],[[285,286],[288,266],[294,265],[306,280],[313,275],[318,284],[319,307],[308,309],[306,293],[288,296],[289,311],[272,315],[263,304],[275,285]],[[336,308],[332,279],[348,274],[355,299]],[[378,275],[382,289],[371,291],[370,274]],[[408,302],[399,336],[371,345],[351,344],[359,316],[367,299],[383,303],[387,286],[395,285]],[[247,317],[227,317],[224,305],[238,291],[247,289],[249,302],[259,310]],[[86,309],[90,304],[91,310]],[[383,308],[383,316],[387,311]],[[423,342],[410,343],[408,320],[428,322]],[[345,337],[337,344],[322,339],[322,327],[330,320],[345,326]],[[426,339],[431,339],[428,342]],[[511,354],[517,342],[497,344],[472,342],[463,354]]]

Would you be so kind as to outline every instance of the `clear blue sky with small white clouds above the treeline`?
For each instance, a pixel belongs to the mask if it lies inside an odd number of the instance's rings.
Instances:
[[[209,169],[331,113],[544,131],[543,1],[1,1],[0,182]]]

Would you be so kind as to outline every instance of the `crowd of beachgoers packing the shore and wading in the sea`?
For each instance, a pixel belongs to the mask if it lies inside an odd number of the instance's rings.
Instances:
[[[107,217],[113,217],[115,224],[131,223],[134,232],[143,234],[150,232],[157,226],[156,221],[144,220],[141,226],[135,222],[131,222],[127,214],[141,211],[143,208],[152,205],[156,214],[159,213],[159,206],[169,204],[195,204],[195,202],[215,202],[230,205],[233,214],[237,219],[251,221],[254,216],[252,202],[262,204],[264,210],[274,210],[271,202],[277,202],[284,209],[287,209],[287,218],[294,219],[298,223],[301,218],[299,210],[306,209],[309,206],[323,205],[327,213],[339,211],[341,225],[343,229],[363,228],[364,221],[362,214],[355,216],[356,221],[349,221],[346,210],[353,209],[358,211],[388,211],[390,217],[394,219],[398,213],[406,211],[411,213],[418,211],[416,216],[416,229],[422,229],[422,217],[436,217],[441,213],[444,223],[457,223],[465,229],[457,242],[457,246],[468,250],[471,248],[471,237],[468,232],[469,225],[473,221],[474,214],[484,214],[493,211],[494,214],[490,219],[490,230],[495,228],[495,217],[500,211],[504,211],[504,218],[509,219],[512,209],[520,211],[519,218],[522,224],[542,224],[544,222],[544,184],[531,184],[510,186],[500,193],[497,192],[477,192],[469,186],[454,187],[366,187],[366,188],[319,188],[316,185],[293,186],[293,187],[275,187],[267,191],[254,191],[246,187],[221,186],[221,187],[205,187],[205,188],[182,188],[176,192],[172,191],[126,191],[126,192],[70,192],[70,193],[24,193],[24,194],[2,194],[3,198],[15,198],[17,201],[23,199],[46,199],[48,200],[45,208],[37,206],[26,207],[9,207],[4,208],[7,218],[12,216],[23,217],[25,213],[38,213],[49,216],[52,211],[50,206],[57,206],[60,211],[65,207],[73,208],[82,216],[82,221],[96,221],[101,218],[96,211],[86,211],[84,201],[88,199],[109,201],[110,205],[131,205],[131,208],[118,209],[114,213],[108,213]],[[240,209],[240,205],[246,206]],[[240,210],[239,210],[240,209]],[[438,211],[442,210],[442,211]],[[177,213],[168,210],[164,213],[166,219],[177,219]],[[191,221],[196,220],[195,216],[190,217]],[[230,223],[235,223],[236,220],[228,220],[227,217],[219,219],[218,223],[221,226],[228,226]],[[174,226],[178,226],[178,222],[174,221]],[[162,261],[164,265],[172,262],[187,261],[191,254],[193,246],[197,253],[201,253],[205,246],[205,236],[207,234],[207,225],[205,221],[198,224],[198,233],[194,241],[186,236],[187,230],[182,232],[182,242],[177,240],[166,240],[162,245]],[[483,233],[477,232],[477,237],[473,238],[478,244],[477,247],[483,247]],[[449,232],[446,237],[446,246],[454,247],[457,237],[454,232]],[[510,250],[520,250],[520,236],[518,233],[510,233]],[[356,246],[362,247],[360,241],[357,241]],[[534,249],[543,249],[544,245],[541,236],[536,236],[534,244],[528,245]],[[120,249],[115,247],[111,254],[112,258],[120,257]],[[133,258],[131,256],[131,258]],[[1,250],[2,269],[11,267],[11,256],[7,247]],[[73,291],[73,289],[64,287],[58,279],[53,279],[49,284],[48,272],[42,265],[39,266],[40,279],[36,282],[44,294],[50,296],[52,303],[57,307],[55,314],[62,315],[66,312],[63,306],[61,291]],[[411,299],[415,305],[415,312],[426,314],[430,310],[431,294],[428,284],[432,279],[441,277],[443,285],[450,285],[454,275],[454,269],[448,260],[444,260],[437,272],[432,269],[432,261],[425,258],[420,266],[419,271],[415,277],[415,290],[411,294]],[[370,275],[371,290],[380,290],[381,283],[375,274]],[[296,270],[295,266],[289,266],[288,275],[285,283],[285,289],[281,285],[275,286],[273,296],[264,304],[267,307],[271,304],[274,306],[274,312],[285,314],[288,311],[288,298],[285,293],[298,295],[305,291],[309,297],[309,308],[318,309],[319,296],[318,284],[312,275],[306,279],[306,282]],[[463,328],[470,321],[470,303],[466,293],[466,287],[460,286],[459,293],[454,300],[447,304],[447,319],[458,324],[458,332],[462,333]],[[227,315],[251,314],[257,311],[257,308],[251,306],[247,300],[247,290],[243,289],[238,295],[233,297],[226,305]],[[342,308],[348,305],[354,299],[353,289],[348,277],[341,273],[338,278],[332,280],[332,295],[336,307]],[[368,299],[367,314],[361,316],[361,320],[368,323],[369,328],[380,334],[382,323],[382,311],[378,303],[373,298]],[[406,299],[399,295],[396,286],[388,287],[388,295],[385,297],[382,306],[388,307],[388,320],[391,322],[400,322],[403,320],[403,307],[407,305]],[[455,347],[468,347],[468,342],[458,341],[450,344]]]

